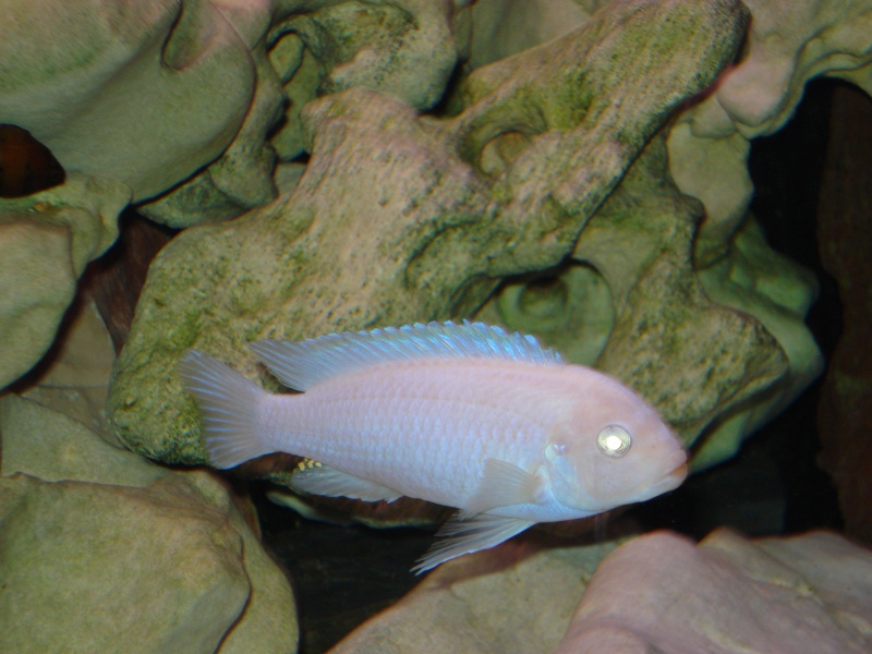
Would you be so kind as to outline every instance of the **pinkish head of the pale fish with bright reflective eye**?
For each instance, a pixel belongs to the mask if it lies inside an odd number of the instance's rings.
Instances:
[[[584,385],[545,448],[555,498],[585,514],[651,499],[687,476],[687,452],[657,412],[595,375],[597,384]]]

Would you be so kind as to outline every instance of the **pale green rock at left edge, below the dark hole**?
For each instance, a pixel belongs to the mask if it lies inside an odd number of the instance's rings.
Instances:
[[[123,184],[71,174],[60,186],[0,198],[0,387],[55,340],[85,265],[118,234]]]

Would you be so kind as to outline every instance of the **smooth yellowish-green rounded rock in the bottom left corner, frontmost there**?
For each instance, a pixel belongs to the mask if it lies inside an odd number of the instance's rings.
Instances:
[[[245,606],[239,534],[179,477],[14,475],[0,497],[4,651],[214,652]]]

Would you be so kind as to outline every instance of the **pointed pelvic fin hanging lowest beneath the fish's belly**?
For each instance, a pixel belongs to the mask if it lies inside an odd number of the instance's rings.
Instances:
[[[417,565],[412,568],[412,572],[421,574],[452,558],[494,547],[533,524],[535,522],[530,520],[504,518],[488,513],[480,513],[469,519],[458,513],[446,522],[436,534],[445,540],[436,543],[417,559]]]

